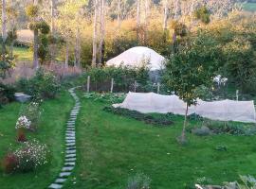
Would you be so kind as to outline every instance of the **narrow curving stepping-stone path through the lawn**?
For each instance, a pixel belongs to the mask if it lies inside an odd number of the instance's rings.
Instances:
[[[76,104],[70,113],[69,120],[66,123],[65,129],[65,156],[64,156],[64,167],[59,174],[59,177],[52,183],[48,188],[59,189],[63,188],[64,181],[67,180],[68,176],[71,175],[72,170],[76,165],[76,128],[75,123],[77,115],[80,111],[81,104],[79,97],[75,94],[76,88],[71,88],[68,92],[73,96]]]

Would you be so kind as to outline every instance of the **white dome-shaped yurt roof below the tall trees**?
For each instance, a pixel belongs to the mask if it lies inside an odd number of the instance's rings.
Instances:
[[[149,61],[150,70],[155,71],[163,68],[165,58],[148,47],[137,46],[124,51],[118,57],[108,60],[106,65],[140,67],[145,61]]]

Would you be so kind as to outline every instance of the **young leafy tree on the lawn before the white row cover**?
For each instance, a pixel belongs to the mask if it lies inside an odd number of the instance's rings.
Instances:
[[[202,33],[186,45],[179,46],[178,51],[172,54],[166,64],[164,80],[167,86],[186,103],[183,129],[179,138],[182,144],[186,142],[189,107],[196,105],[196,99],[199,97],[196,89],[200,86],[210,88],[218,67],[219,55],[220,49],[216,42]]]

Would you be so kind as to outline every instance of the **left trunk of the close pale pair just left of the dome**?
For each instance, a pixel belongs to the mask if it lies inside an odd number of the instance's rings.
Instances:
[[[96,67],[97,60],[97,21],[98,21],[98,0],[94,0],[94,26],[93,26],[93,57],[92,66]]]

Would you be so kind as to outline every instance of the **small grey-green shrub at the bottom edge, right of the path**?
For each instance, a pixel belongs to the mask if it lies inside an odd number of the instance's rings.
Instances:
[[[136,176],[129,178],[126,189],[150,189],[150,178],[143,173],[137,173]]]

